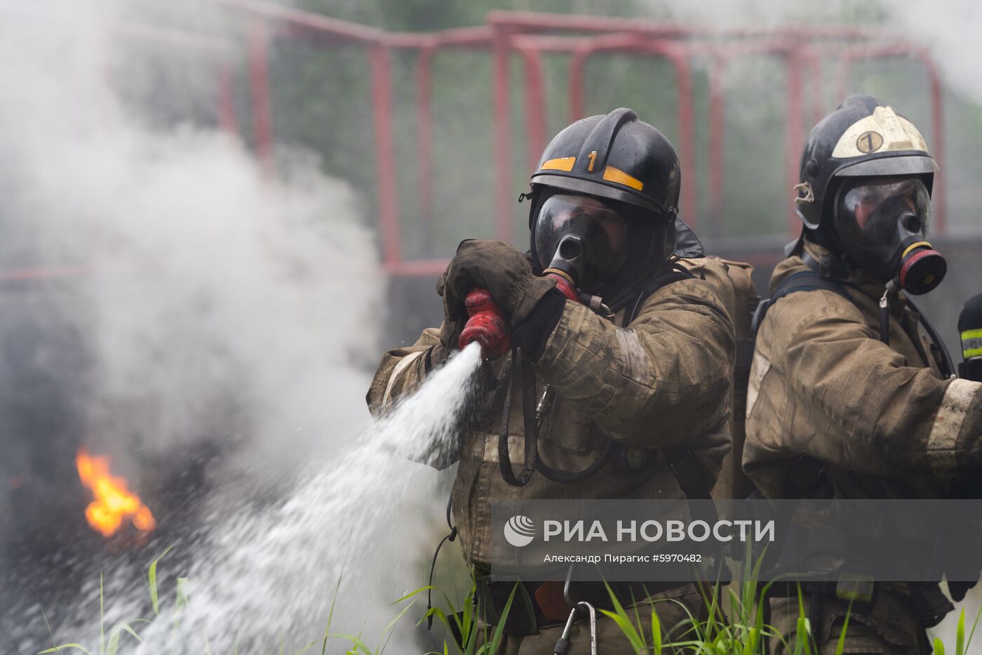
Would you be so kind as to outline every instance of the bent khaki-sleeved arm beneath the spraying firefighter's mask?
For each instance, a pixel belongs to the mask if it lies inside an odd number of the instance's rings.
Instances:
[[[536,368],[614,440],[690,443],[730,411],[735,338],[725,307],[703,279],[659,289],[627,328],[567,301]]]

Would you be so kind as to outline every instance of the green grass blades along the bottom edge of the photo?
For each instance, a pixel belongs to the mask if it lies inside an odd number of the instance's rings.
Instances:
[[[116,625],[107,627],[105,625],[105,597],[102,585],[102,575],[99,575],[99,637],[97,644],[89,644],[88,647],[78,642],[58,644],[55,640],[53,631],[48,626],[51,635],[52,646],[44,650],[37,651],[38,655],[47,653],[73,652],[80,651],[85,655],[121,655],[125,652],[124,646],[134,646],[141,641],[141,637],[135,626],[149,624],[158,619],[168,605],[173,610],[173,624],[171,626],[172,642],[169,646],[160,646],[160,652],[170,652],[172,654],[183,652],[176,650],[175,633],[180,625],[182,614],[188,606],[189,598],[187,592],[188,578],[178,577],[173,591],[173,600],[169,601],[162,593],[158,584],[157,568],[161,560],[170,552],[166,549],[156,557],[148,566],[147,574],[144,578],[149,592],[150,609],[152,614],[149,617],[138,618],[127,622],[120,622]],[[750,566],[744,565],[743,580],[739,583],[732,583],[728,586],[721,586],[718,583],[711,590],[702,589],[703,600],[707,608],[706,618],[693,616],[688,608],[675,599],[643,600],[632,603],[625,607],[610,586],[607,586],[611,598],[611,610],[599,610],[598,614],[613,621],[624,632],[635,653],[695,653],[713,655],[763,655],[765,652],[765,642],[767,639],[772,641],[773,646],[780,643],[784,646],[787,653],[793,655],[814,655],[818,652],[812,626],[809,624],[807,614],[804,609],[804,597],[798,588],[798,618],[796,631],[791,640],[786,635],[779,634],[771,625],[763,623],[763,603],[765,602],[768,587],[772,584],[768,582],[759,585],[756,580],[759,577],[761,562]],[[503,611],[503,619],[500,625],[484,625],[478,620],[476,614],[476,604],[474,595],[475,586],[471,584],[470,589],[464,595],[463,600],[455,602],[446,593],[437,587],[424,586],[409,592],[402,598],[392,603],[394,608],[394,618],[382,630],[378,638],[378,646],[371,648],[365,637],[359,634],[348,634],[343,632],[333,632],[331,625],[334,619],[334,609],[338,600],[338,593],[341,587],[341,578],[335,586],[328,612],[327,622],[323,633],[317,638],[310,640],[303,645],[300,650],[290,650],[294,655],[301,653],[317,653],[326,655],[328,652],[328,642],[332,640],[341,641],[345,644],[346,653],[350,655],[382,655],[386,646],[392,639],[395,628],[409,614],[410,610],[416,606],[416,602],[422,594],[434,591],[442,597],[443,606],[433,607],[422,613],[416,625],[422,625],[432,618],[436,625],[440,625],[446,630],[447,636],[443,639],[441,651],[431,651],[426,655],[491,655],[498,652],[504,639],[504,619],[507,618],[515,599],[518,585],[513,588],[508,602]],[[633,600],[633,599],[632,599]],[[657,610],[662,603],[675,603],[682,607],[687,618],[679,625],[662,625],[659,620]],[[645,610],[642,612],[642,610]],[[650,617],[648,617],[650,612]],[[940,638],[934,639],[934,651],[938,655],[967,655],[975,629],[978,626],[982,610],[976,615],[971,628],[965,629],[964,610],[958,617],[955,629],[954,649],[946,648],[945,643]],[[848,615],[845,624],[839,634],[836,655],[842,655],[846,643],[846,630],[848,629]],[[44,618],[47,625],[47,617]],[[459,645],[453,635],[461,635],[464,645]],[[283,635],[279,637],[279,649],[275,652],[279,655],[286,655]],[[211,645],[207,634],[201,635],[199,645],[204,653],[211,655]],[[336,651],[331,651],[336,652]],[[238,644],[234,647],[232,655],[239,655]]]

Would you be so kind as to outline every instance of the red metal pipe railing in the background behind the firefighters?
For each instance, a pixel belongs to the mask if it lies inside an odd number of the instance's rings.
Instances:
[[[604,17],[565,16],[529,12],[492,12],[486,25],[433,33],[387,32],[331,19],[263,0],[213,0],[242,22],[243,44],[248,67],[252,139],[258,157],[272,174],[275,144],[273,103],[270,89],[270,50],[277,39],[303,39],[318,46],[359,44],[366,50],[371,75],[372,125],[375,139],[378,225],[382,264],[394,275],[431,275],[445,266],[444,260],[407,260],[402,252],[403,230],[393,134],[392,57],[395,49],[416,53],[416,182],[424,234],[432,230],[433,215],[433,98],[432,62],[436,54],[451,48],[487,52],[492,61],[493,161],[495,167],[495,232],[511,241],[514,237],[515,193],[513,180],[511,66],[518,56],[524,75],[525,153],[529,172],[548,138],[545,117],[546,94],[544,53],[561,53],[569,61],[569,106],[571,120],[582,117],[583,85],[587,61],[599,53],[626,53],[639,57],[664,58],[676,75],[678,93],[679,152],[682,159],[682,216],[712,236],[721,236],[725,183],[724,116],[726,96],[723,79],[730,62],[747,55],[769,55],[784,62],[787,71],[787,120],[785,133],[788,195],[780,210],[788,216],[788,229],[796,233],[799,223],[792,212],[791,187],[797,181],[797,165],[804,139],[806,112],[810,122],[825,112],[822,92],[823,60],[839,64],[839,96],[845,94],[849,68],[873,57],[914,57],[927,67],[932,94],[933,146],[937,159],[944,157],[944,116],[941,80],[926,51],[906,45],[895,36],[852,27],[781,27],[719,30],[675,23],[634,21]],[[174,40],[185,44],[225,50],[225,41],[212,42],[191,32],[128,26],[132,33]],[[204,40],[201,40],[204,39]],[[696,151],[692,90],[693,61],[708,58],[709,118],[707,168],[708,215],[696,211],[694,184]],[[223,59],[217,80],[219,122],[224,129],[239,129],[233,102],[230,63]],[[806,107],[806,100],[810,106]],[[936,226],[945,228],[944,196],[936,184]],[[702,219],[707,218],[703,225]],[[0,275],[2,277],[2,275]]]

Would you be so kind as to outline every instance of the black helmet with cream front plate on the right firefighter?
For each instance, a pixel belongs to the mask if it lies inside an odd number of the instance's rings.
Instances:
[[[873,95],[850,95],[808,135],[794,187],[797,215],[809,230],[824,232],[850,178],[919,176],[930,193],[937,170],[913,123]]]

